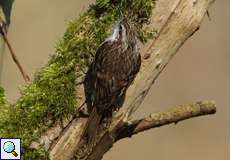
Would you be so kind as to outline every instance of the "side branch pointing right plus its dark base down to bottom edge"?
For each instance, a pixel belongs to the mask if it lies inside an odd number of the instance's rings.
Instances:
[[[134,134],[168,125],[178,123],[193,117],[214,114],[216,107],[214,102],[197,102],[190,105],[181,105],[173,107],[165,112],[152,113],[148,117],[133,120],[131,122],[120,121],[120,124],[111,132],[106,132],[98,144],[92,148],[91,154],[87,157],[89,160],[100,160],[103,155],[112,148],[113,144],[120,139],[131,137]]]

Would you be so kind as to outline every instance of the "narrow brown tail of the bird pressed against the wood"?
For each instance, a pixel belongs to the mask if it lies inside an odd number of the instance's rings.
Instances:
[[[92,112],[87,120],[85,130],[83,132],[83,137],[87,138],[87,143],[90,144],[97,132],[98,126],[101,121],[101,114],[98,113],[96,107],[93,107]]]

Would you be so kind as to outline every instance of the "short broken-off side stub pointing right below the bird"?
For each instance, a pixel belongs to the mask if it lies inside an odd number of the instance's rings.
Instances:
[[[212,101],[197,102],[190,105],[181,105],[174,107],[165,112],[152,113],[147,118],[134,120],[126,125],[126,127],[119,131],[120,135],[117,140],[125,137],[131,137],[134,134],[168,125],[171,123],[178,123],[189,118],[204,116],[216,113],[216,105]],[[126,133],[126,134],[125,134]]]

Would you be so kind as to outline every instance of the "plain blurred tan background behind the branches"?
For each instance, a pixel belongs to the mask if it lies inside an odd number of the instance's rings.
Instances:
[[[94,0],[15,1],[9,39],[30,77],[54,53],[68,20]],[[217,114],[187,120],[124,139],[105,160],[229,160],[230,159],[230,21],[229,0],[217,1],[201,29],[180,49],[160,75],[136,116],[168,107],[215,100]],[[1,65],[0,65],[1,66]],[[1,86],[10,100],[24,85],[8,50],[4,53]]]

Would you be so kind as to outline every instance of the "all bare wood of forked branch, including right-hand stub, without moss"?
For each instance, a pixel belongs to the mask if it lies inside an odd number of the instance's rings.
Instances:
[[[191,117],[215,113],[213,102],[197,102],[167,112],[153,113],[141,120],[130,120],[161,71],[183,43],[199,29],[212,2],[214,0],[157,1],[148,26],[157,30],[157,37],[142,46],[142,68],[134,84],[128,89],[125,108],[114,115],[111,125],[98,134],[97,142],[90,145],[84,142],[79,144],[87,118],[67,121],[65,129],[55,136],[58,139],[48,147],[50,159],[99,160],[121,138]],[[81,147],[78,148],[79,146]]]

